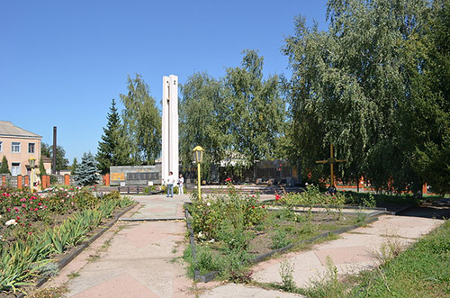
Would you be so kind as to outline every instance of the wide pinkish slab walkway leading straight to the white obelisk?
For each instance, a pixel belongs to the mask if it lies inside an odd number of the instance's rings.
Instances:
[[[193,284],[181,259],[184,221],[146,221],[182,217],[189,196],[136,195],[139,204],[96,239],[44,287],[66,285],[67,297],[298,297],[242,284]],[[232,288],[232,292],[229,292]],[[211,296],[212,295],[212,296]]]

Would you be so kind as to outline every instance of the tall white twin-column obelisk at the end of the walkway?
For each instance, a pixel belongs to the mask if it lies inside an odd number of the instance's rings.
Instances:
[[[167,181],[169,172],[178,178],[178,77],[163,77],[163,123],[161,177]]]

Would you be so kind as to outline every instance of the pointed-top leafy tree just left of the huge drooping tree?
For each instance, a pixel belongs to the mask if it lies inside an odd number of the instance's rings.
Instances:
[[[256,50],[244,50],[241,66],[227,68],[224,77],[232,151],[253,165],[260,159],[273,158],[283,132],[284,100],[279,78],[264,79],[264,58]]]

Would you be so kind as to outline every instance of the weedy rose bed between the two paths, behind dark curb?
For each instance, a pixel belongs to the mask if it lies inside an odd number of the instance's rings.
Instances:
[[[345,202],[344,194],[330,196],[311,188],[302,194],[276,195],[274,210],[260,202],[258,196],[238,194],[230,183],[228,194],[193,199],[188,209],[195,236],[195,260],[191,247],[184,251],[190,264],[189,275],[193,276],[194,270],[199,270],[200,275],[217,271],[221,278],[246,282],[251,277],[248,266],[257,256],[365,220],[359,213],[344,216],[339,206]],[[297,204],[311,209],[313,205],[325,206],[328,212],[295,212],[293,206]],[[269,208],[272,212],[268,212]]]

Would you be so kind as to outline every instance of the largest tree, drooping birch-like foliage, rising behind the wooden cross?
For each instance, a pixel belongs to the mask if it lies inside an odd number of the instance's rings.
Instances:
[[[291,100],[293,154],[306,167],[335,144],[345,178],[365,175],[379,188],[419,189],[403,134],[411,101],[405,49],[424,37],[426,0],[332,0],[329,31],[308,28],[301,17],[286,39],[293,77]],[[416,65],[415,71],[420,71]],[[317,156],[320,154],[321,157]]]

